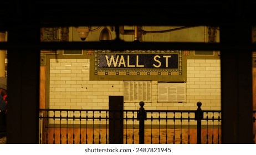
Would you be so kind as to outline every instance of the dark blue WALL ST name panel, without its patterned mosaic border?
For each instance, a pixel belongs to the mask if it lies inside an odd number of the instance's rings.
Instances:
[[[99,69],[178,69],[178,53],[98,54]]]

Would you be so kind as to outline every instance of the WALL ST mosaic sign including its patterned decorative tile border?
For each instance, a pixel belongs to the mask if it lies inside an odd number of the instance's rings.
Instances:
[[[184,80],[182,58],[182,50],[94,50],[90,79]]]

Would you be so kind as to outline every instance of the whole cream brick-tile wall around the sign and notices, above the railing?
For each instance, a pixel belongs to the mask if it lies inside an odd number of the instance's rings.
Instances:
[[[90,81],[89,59],[50,59],[50,108],[108,109],[109,96],[123,95],[123,81]],[[160,103],[158,82],[152,81],[152,102],[147,110],[221,109],[220,60],[187,60],[187,102]],[[139,103],[125,103],[125,109],[139,109]]]

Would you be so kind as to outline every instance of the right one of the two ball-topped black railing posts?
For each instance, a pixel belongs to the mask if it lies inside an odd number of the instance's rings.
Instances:
[[[197,102],[197,111],[196,111],[196,120],[197,120],[197,143],[201,144],[201,130],[202,130],[202,119],[203,119],[203,112],[201,109],[202,102]]]

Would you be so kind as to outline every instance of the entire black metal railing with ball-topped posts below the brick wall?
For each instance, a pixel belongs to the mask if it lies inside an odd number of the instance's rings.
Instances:
[[[221,143],[221,111],[201,105],[197,102],[197,110],[145,110],[144,102],[139,110],[40,109],[39,143]]]

